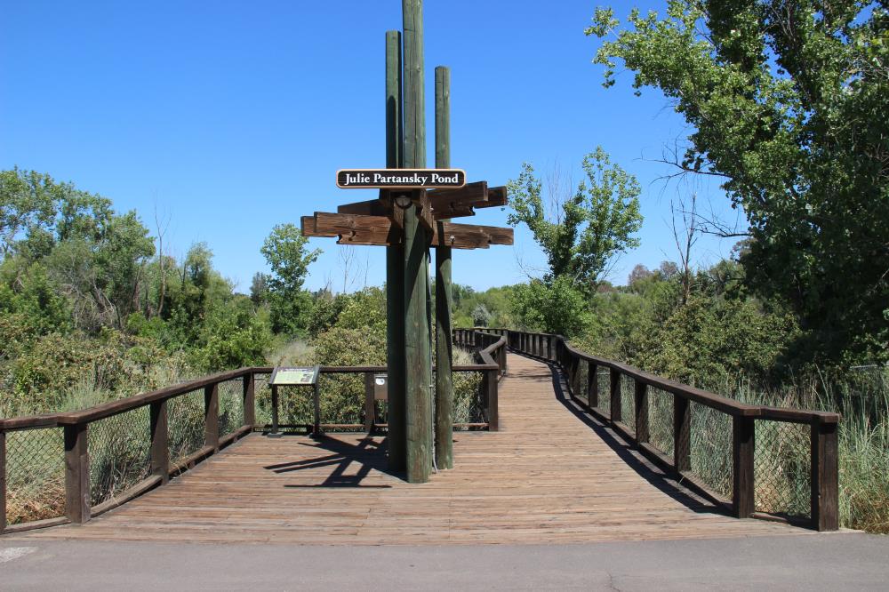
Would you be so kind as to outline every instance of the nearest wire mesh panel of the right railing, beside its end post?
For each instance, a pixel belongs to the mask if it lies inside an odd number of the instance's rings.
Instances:
[[[809,426],[757,421],[754,446],[756,508],[782,516],[809,516]]]

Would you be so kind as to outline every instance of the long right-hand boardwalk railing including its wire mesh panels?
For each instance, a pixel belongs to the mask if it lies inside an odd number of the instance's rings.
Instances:
[[[510,349],[561,366],[575,402],[734,516],[837,530],[838,413],[743,404],[591,356],[560,335],[465,331],[504,336]]]

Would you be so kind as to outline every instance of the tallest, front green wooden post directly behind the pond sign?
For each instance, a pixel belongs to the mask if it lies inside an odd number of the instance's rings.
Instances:
[[[426,167],[423,98],[423,8],[403,0],[404,167]],[[419,192],[415,193],[419,197]],[[425,483],[432,470],[432,360],[428,326],[428,233],[417,206],[404,210],[404,363],[407,480]]]

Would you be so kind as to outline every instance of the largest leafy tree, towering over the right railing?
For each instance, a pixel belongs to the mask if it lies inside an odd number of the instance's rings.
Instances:
[[[605,86],[622,60],[693,126],[672,164],[721,178],[746,212],[751,287],[789,303],[822,355],[889,356],[873,339],[889,301],[885,2],[669,0],[628,24],[597,9],[586,31],[610,39]]]

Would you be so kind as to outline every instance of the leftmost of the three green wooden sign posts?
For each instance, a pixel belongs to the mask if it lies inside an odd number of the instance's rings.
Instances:
[[[401,98],[401,32],[386,32],[386,166],[400,168],[404,131]],[[388,366],[388,466],[406,468],[404,410],[404,247],[386,247],[386,364]]]

